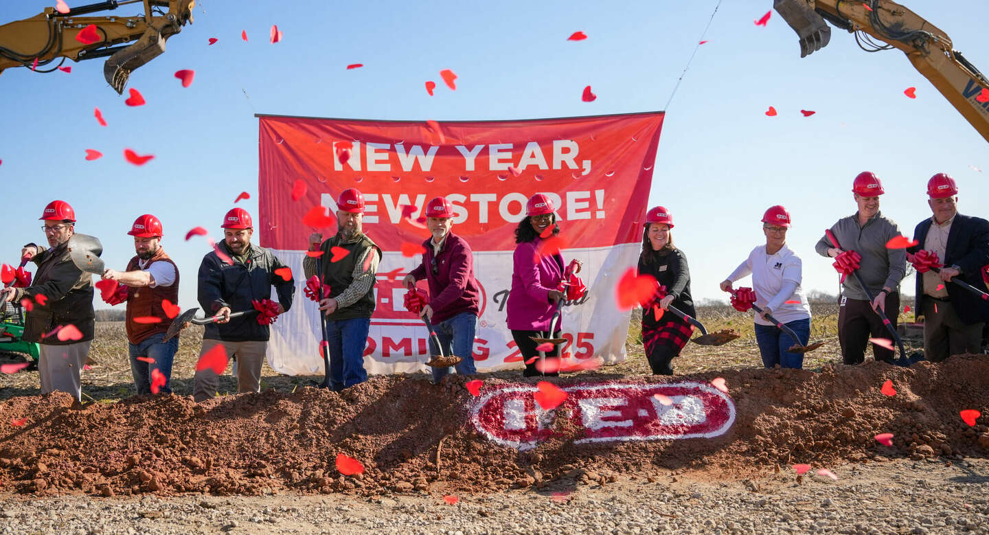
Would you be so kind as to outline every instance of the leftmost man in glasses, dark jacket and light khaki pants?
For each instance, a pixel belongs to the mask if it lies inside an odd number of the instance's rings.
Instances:
[[[66,245],[75,233],[72,207],[65,201],[52,201],[39,220],[45,222],[42,230],[48,248],[28,243],[21,249],[22,257],[38,265],[34,283],[0,290],[0,296],[7,303],[23,303],[28,310],[23,339],[39,343],[42,394],[67,392],[82,401],[79,374],[93,342],[96,320],[92,275],[72,263]],[[63,328],[68,334],[59,336]]]

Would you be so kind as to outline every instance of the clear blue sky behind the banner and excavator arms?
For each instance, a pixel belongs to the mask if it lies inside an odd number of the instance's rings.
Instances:
[[[662,110],[717,2],[197,3],[195,24],[133,74],[129,87],[145,106],[125,106],[126,95],[104,81],[101,59],[66,61],[70,74],[3,72],[0,261],[16,263],[21,245],[44,241],[38,218],[59,198],[75,208],[77,231],[102,239],[108,266],[123,269],[134,255],[126,232],[152,213],[181,270],[180,305],[196,307],[208,249],[183,237],[197,225],[221,235],[241,191],[251,199],[237,206],[257,216],[255,113],[444,121]],[[989,143],[902,52],[866,53],[835,29],[831,45],[801,59],[778,14],[765,28],[754,24],[771,4],[722,4],[667,109],[650,206],[674,214],[695,298],[724,299],[718,282],[764,241],[760,218],[776,204],[793,217],[787,242],[803,258],[804,287],[836,293],[831,262],[813,245],[854,213],[859,171],[883,180],[882,212],[908,235],[931,215],[925,184],[936,172],[957,180],[961,213],[989,213]],[[2,2],[0,24],[47,5]],[[985,0],[905,5],[989,72]],[[138,6],[112,14],[135,15]],[[283,32],[276,45],[272,24]],[[576,31],[587,39],[568,42]],[[220,41],[209,46],[210,38]],[[364,67],[346,70],[349,63]],[[439,82],[444,68],[458,74],[457,90],[429,97],[423,82]],[[191,87],[173,78],[179,69],[196,71]],[[582,102],[585,85],[594,102]],[[903,94],[910,86],[915,100]],[[764,115],[769,106],[776,117]],[[108,127],[97,125],[94,107]],[[125,147],[155,158],[135,167]],[[87,148],[104,157],[86,161]]]

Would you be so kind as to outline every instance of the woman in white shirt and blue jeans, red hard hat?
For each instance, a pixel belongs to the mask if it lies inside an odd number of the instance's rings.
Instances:
[[[800,345],[807,345],[810,339],[810,305],[800,287],[802,265],[800,258],[786,246],[789,227],[790,215],[786,209],[774,206],[766,210],[763,216],[765,245],[753,249],[749,258],[721,283],[721,289],[728,292],[732,283],[752,274],[756,305],[763,309],[763,313],[755,316],[756,341],[766,368],[777,364],[782,368],[802,368],[803,353],[787,351],[797,341],[765,319],[765,314],[772,314],[780,323],[793,329],[800,338]]]

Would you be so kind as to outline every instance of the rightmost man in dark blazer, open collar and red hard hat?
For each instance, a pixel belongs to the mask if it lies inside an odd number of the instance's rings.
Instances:
[[[958,214],[954,180],[938,173],[928,181],[928,205],[934,217],[917,224],[908,249],[938,253],[944,267],[917,274],[917,315],[924,316],[924,353],[931,362],[950,355],[979,353],[989,303],[951,284],[957,277],[972,286],[982,284],[982,266],[989,264],[989,222]],[[915,261],[914,266],[918,263]]]

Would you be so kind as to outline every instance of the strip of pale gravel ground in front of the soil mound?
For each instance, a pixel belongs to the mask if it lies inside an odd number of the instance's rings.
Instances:
[[[815,467],[815,470],[818,467]],[[462,495],[0,501],[2,533],[989,533],[989,460],[845,465],[832,481],[788,467],[761,480],[670,473],[652,482]]]

